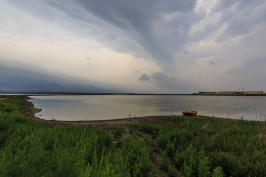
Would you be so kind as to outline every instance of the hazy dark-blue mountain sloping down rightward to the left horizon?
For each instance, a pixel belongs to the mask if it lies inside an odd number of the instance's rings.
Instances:
[[[103,89],[82,83],[84,82],[79,82],[78,79],[64,79],[27,69],[0,65],[0,92],[123,92],[122,90]]]

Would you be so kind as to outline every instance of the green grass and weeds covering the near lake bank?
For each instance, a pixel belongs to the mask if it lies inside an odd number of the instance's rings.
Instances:
[[[266,177],[266,123],[171,117],[167,124],[53,128],[1,96],[1,177]]]

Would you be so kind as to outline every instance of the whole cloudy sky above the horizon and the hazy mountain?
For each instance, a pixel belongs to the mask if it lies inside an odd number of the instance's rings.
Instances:
[[[266,92],[266,1],[0,0],[0,65],[125,92]]]

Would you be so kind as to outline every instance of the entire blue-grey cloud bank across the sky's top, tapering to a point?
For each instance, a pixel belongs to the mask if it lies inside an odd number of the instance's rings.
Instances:
[[[258,24],[265,24],[264,2],[219,0],[210,12],[210,16],[219,14],[219,19],[206,23],[203,31],[190,37],[191,28],[206,15],[203,6],[194,10],[197,0],[6,1],[81,37],[95,38],[117,52],[155,59],[163,69],[172,67],[173,53],[188,41],[202,40],[224,24],[226,28],[216,35],[216,42],[248,34]]]

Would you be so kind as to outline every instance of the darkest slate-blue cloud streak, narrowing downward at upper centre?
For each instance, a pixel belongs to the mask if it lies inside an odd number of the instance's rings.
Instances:
[[[167,41],[163,41],[157,36],[156,28],[158,27],[154,27],[153,22],[160,20],[158,18],[162,14],[191,11],[196,4],[196,0],[167,0],[167,2],[160,0],[127,2],[121,0],[78,0],[78,2],[88,13],[124,33],[130,33],[137,45],[142,46],[161,66],[171,62],[173,54],[164,45]],[[178,37],[175,39],[175,41],[179,40]]]

